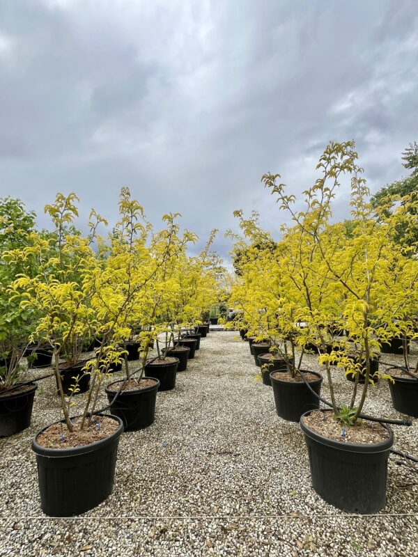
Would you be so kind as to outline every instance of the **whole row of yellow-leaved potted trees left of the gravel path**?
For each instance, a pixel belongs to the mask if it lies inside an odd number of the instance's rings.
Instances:
[[[33,214],[17,229],[28,213],[5,200],[21,214],[9,217],[15,236],[1,246],[0,303],[8,313],[1,321],[0,435],[29,425],[36,382],[25,377],[23,358],[39,366],[45,357],[61,416],[45,424],[32,448],[42,509],[55,516],[79,514],[109,495],[119,437],[153,422],[157,390],[173,389],[179,366],[194,357],[208,331],[201,316],[217,301],[222,272],[210,252],[215,231],[190,257],[197,237],[180,233],[179,215],[164,215],[164,227],[154,231],[123,188],[109,236],[98,235],[107,222],[94,210],[90,233],[82,235],[74,225],[77,201],[58,194],[45,207],[54,223],[47,232],[36,230]],[[137,366],[128,365],[133,360]],[[105,386],[109,404],[100,409],[104,385],[118,370],[125,377]],[[73,416],[80,393],[82,412]]]

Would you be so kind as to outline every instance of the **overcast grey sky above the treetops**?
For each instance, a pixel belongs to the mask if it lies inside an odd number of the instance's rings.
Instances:
[[[417,0],[0,0],[0,195],[114,223],[128,186],[225,256],[236,208],[284,220],[261,175],[300,194],[330,140],[372,191],[399,178],[417,84]]]

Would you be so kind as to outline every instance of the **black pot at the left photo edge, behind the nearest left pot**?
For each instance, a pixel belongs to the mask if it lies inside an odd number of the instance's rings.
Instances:
[[[0,437],[10,437],[31,425],[36,389],[38,385],[32,383],[25,391],[0,395]]]

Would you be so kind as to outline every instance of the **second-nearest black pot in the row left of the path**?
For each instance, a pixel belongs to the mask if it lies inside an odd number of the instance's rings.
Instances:
[[[157,399],[160,382],[155,378],[153,378],[153,381],[153,385],[144,389],[121,391],[111,405],[111,413],[122,419],[125,431],[144,430],[145,427],[149,427],[154,422],[155,400]],[[114,400],[122,382],[123,379],[115,381],[104,389],[109,402]],[[112,386],[113,389],[111,389]]]

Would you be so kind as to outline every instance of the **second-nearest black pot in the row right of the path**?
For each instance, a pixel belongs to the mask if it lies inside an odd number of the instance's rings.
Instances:
[[[307,371],[301,371],[302,373],[307,373]],[[319,408],[318,398],[309,390],[302,379],[300,379],[300,382],[285,381],[284,379],[272,377],[274,373],[274,371],[270,373],[270,381],[272,382],[277,416],[287,421],[298,422],[302,414],[308,410]],[[309,382],[309,384],[319,395],[320,386],[323,381],[322,375],[315,371],[310,371],[309,373],[318,377],[316,381]]]

